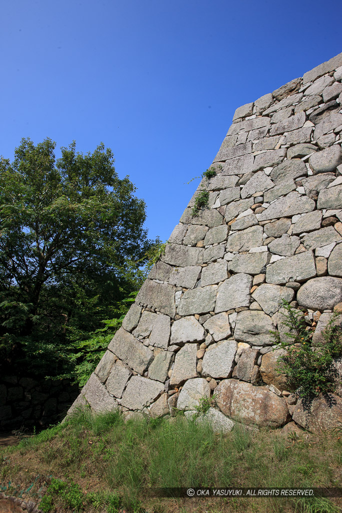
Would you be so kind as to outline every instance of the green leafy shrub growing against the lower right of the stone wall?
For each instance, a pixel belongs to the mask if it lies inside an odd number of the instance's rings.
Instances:
[[[332,373],[333,359],[342,354],[342,328],[336,325],[333,315],[324,331],[324,341],[312,344],[312,330],[306,325],[304,315],[296,312],[286,301],[286,310],[281,322],[289,328],[287,341],[276,338],[277,346],[287,352],[280,357],[282,372],[288,377],[289,385],[299,397],[310,399],[319,393],[333,391],[335,383]]]

